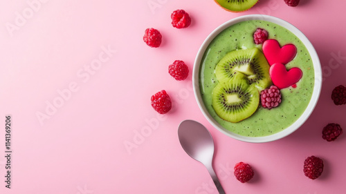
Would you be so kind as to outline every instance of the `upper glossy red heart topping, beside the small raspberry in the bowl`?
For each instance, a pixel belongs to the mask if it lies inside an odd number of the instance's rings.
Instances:
[[[297,48],[293,44],[286,44],[280,48],[279,42],[275,39],[264,41],[262,49],[270,66],[277,63],[288,64],[297,54]]]

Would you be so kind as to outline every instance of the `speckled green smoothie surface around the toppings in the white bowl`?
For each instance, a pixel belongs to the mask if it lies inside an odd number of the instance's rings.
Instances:
[[[295,58],[286,64],[290,69],[302,70],[302,78],[296,88],[281,90],[282,103],[276,108],[266,109],[261,105],[256,112],[241,122],[231,123],[221,119],[212,108],[212,90],[218,84],[215,66],[228,52],[238,49],[259,48],[253,41],[253,32],[262,28],[268,32],[268,39],[276,39],[280,46],[292,43],[297,48]],[[203,102],[210,115],[224,128],[233,133],[250,137],[272,135],[293,124],[307,108],[314,84],[313,63],[307,48],[292,32],[275,23],[260,20],[242,21],[223,30],[213,39],[206,49],[199,70],[199,87]]]

